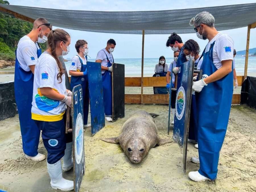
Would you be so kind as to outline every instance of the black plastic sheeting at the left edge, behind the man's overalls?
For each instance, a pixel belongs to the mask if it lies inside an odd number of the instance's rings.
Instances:
[[[18,114],[14,81],[0,82],[0,121]]]

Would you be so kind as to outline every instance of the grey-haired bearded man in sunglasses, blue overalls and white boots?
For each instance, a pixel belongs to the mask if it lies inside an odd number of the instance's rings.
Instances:
[[[198,153],[200,168],[189,172],[194,181],[215,180],[220,150],[225,138],[233,96],[232,38],[214,28],[214,17],[208,12],[190,21],[197,37],[209,42],[203,52],[203,79],[193,82],[197,98]]]

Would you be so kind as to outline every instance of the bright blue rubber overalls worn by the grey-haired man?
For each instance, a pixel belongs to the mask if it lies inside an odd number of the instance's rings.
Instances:
[[[209,51],[203,54],[200,68],[203,74],[208,76],[218,70],[212,58],[214,43],[215,41]],[[228,126],[232,96],[233,71],[222,79],[204,86],[198,94],[198,172],[211,180],[217,177],[220,149]]]

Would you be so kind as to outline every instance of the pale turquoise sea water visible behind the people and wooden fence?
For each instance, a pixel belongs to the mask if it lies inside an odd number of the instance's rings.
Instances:
[[[158,63],[159,58],[144,58],[143,74],[154,74],[155,65]],[[138,77],[141,75],[141,59],[114,59],[115,63],[125,65],[125,75],[134,74]],[[88,61],[95,62],[95,59],[88,59]],[[173,57],[166,58],[166,63],[170,66]],[[235,57],[236,72],[244,73],[245,57]],[[71,65],[70,61],[65,62],[67,71]],[[249,57],[247,73],[256,73],[256,57]]]

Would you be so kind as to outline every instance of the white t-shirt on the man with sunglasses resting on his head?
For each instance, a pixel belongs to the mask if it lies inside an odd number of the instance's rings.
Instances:
[[[24,36],[18,42],[17,47],[17,59],[20,63],[20,67],[24,71],[30,71],[29,65],[36,65],[37,62],[37,49],[39,46],[33,42],[28,36]]]

